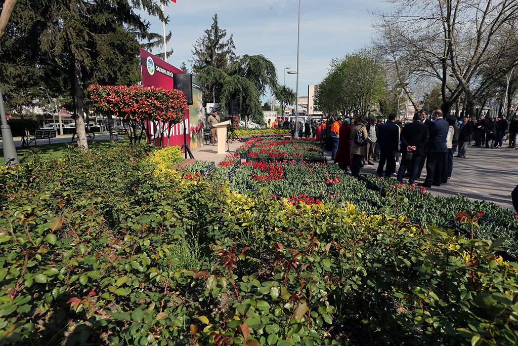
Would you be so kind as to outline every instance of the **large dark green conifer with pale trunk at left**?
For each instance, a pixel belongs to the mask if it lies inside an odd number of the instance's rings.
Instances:
[[[6,36],[30,39],[31,47],[38,48],[23,63],[57,76],[51,91],[71,96],[78,144],[85,149],[86,87],[140,80],[139,40],[157,41],[160,36],[148,31],[148,23],[135,10],[165,20],[154,0],[18,0],[7,26]],[[2,49],[2,56],[8,53]]]

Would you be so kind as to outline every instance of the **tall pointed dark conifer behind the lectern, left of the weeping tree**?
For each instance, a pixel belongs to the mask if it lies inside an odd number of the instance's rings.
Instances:
[[[218,24],[218,14],[212,17],[212,25],[205,30],[203,37],[196,40],[193,45],[193,60],[189,60],[192,65],[192,71],[196,78],[200,81],[202,77],[200,73],[206,67],[213,67],[221,70],[225,74],[228,72],[229,66],[237,59],[234,53],[234,35],[225,40],[226,30],[220,29]],[[217,82],[206,83],[204,100],[211,100],[213,103],[220,99],[221,85]]]

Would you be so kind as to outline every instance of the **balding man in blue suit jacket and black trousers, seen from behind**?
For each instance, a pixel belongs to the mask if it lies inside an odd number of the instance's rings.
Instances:
[[[448,153],[446,146],[446,136],[448,135],[449,125],[442,118],[441,110],[434,110],[431,114],[433,121],[430,123],[430,139],[426,145],[428,157],[426,158],[426,179],[424,187],[430,188],[432,185],[441,186],[440,178],[444,165],[444,158]]]

